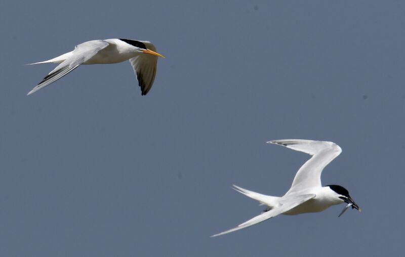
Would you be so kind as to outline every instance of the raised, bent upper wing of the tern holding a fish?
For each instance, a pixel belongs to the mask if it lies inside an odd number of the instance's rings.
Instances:
[[[323,168],[342,152],[337,144],[327,141],[283,139],[267,143],[282,145],[312,155],[298,170],[287,194],[310,187],[321,187],[320,174]]]

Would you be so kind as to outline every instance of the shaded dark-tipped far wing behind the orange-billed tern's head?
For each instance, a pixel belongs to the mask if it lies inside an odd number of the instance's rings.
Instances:
[[[155,46],[149,41],[141,41],[147,49],[156,52]],[[156,75],[157,56],[139,53],[130,59],[132,68],[141,87],[142,96],[146,95],[152,88]]]

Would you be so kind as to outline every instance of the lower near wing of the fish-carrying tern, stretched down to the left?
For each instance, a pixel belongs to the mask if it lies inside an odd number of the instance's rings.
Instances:
[[[212,235],[211,237],[215,237],[215,236],[220,236],[220,235],[224,235],[224,234],[228,234],[230,232],[239,230],[239,229],[244,229],[256,224],[259,224],[265,220],[268,220],[270,218],[273,218],[277,215],[280,215],[281,213],[284,213],[288,210],[291,210],[292,208],[300,205],[303,202],[308,201],[309,199],[314,198],[316,195],[315,194],[306,194],[306,195],[298,195],[298,196],[288,196],[288,197],[284,197],[284,199],[280,200],[280,206],[279,207],[275,207],[269,211],[263,212],[261,215],[258,215],[256,217],[254,217],[253,219],[250,219],[247,222],[244,222],[242,224],[239,224],[236,228]]]

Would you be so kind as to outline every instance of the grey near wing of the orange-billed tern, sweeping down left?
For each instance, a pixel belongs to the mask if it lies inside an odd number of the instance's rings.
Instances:
[[[61,64],[56,66],[56,68],[52,70],[46,77],[44,77],[44,79],[39,82],[35,88],[28,92],[27,96],[42,88],[45,88],[47,85],[63,77],[70,71],[77,68],[80,64],[95,56],[100,50],[106,48],[108,45],[108,42],[104,40],[92,40],[77,45],[74,48],[71,57],[67,58]]]

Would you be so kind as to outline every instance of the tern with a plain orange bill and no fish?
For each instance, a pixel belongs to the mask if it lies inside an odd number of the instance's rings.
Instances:
[[[127,60],[131,62],[142,95],[146,95],[155,79],[157,57],[165,58],[155,51],[156,48],[149,41],[112,38],[84,42],[77,45],[73,51],[54,59],[30,63],[59,63],[59,65],[28,92],[27,96],[55,82],[80,64],[110,64]]]

